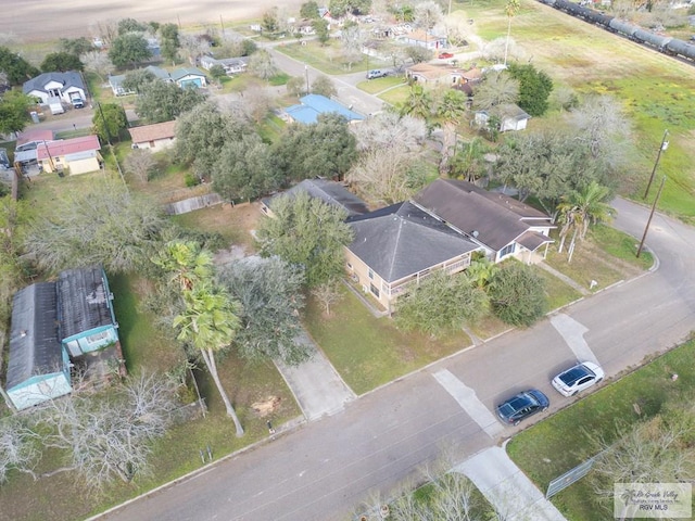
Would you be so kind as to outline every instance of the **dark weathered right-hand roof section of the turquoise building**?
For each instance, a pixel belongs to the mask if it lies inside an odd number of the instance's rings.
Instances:
[[[113,323],[100,266],[61,271],[56,283],[61,340]]]

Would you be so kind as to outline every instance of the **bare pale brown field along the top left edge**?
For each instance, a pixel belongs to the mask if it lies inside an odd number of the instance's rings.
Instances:
[[[302,0],[285,0],[282,8],[298,12]],[[140,22],[182,26],[232,24],[260,16],[278,5],[273,0],[0,0],[0,33],[20,41],[97,36],[98,24],[131,17]]]

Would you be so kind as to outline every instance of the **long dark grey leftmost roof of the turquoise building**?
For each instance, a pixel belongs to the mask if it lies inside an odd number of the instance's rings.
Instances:
[[[38,282],[14,294],[5,389],[62,369],[56,330],[55,283]]]

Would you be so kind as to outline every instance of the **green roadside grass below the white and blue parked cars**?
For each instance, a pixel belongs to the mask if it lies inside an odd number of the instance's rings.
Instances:
[[[574,403],[547,420],[514,436],[507,452],[544,492],[551,480],[594,456],[590,439],[610,443],[616,425],[631,425],[659,412],[669,402],[692,399],[695,385],[695,341],[670,351],[637,371]],[[678,381],[670,376],[677,372]],[[639,405],[641,415],[635,412]],[[553,498],[570,521],[605,521],[587,498],[594,495],[586,478]]]

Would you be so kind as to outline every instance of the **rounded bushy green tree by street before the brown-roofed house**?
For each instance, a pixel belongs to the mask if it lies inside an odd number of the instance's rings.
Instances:
[[[545,282],[531,266],[517,260],[505,263],[488,285],[492,312],[511,326],[528,327],[543,316]]]

